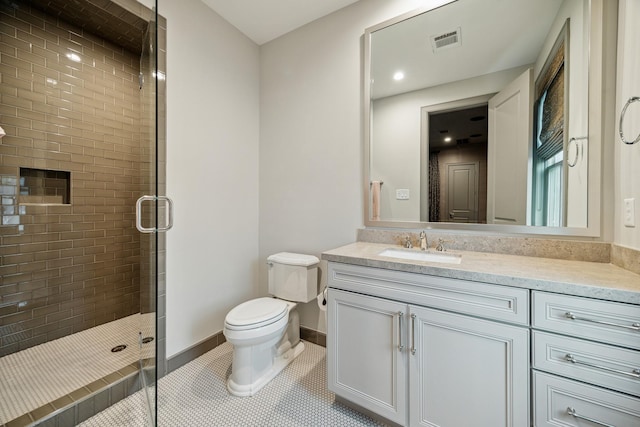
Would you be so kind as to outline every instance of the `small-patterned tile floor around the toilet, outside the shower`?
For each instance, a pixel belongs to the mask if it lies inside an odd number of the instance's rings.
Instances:
[[[158,426],[294,427],[383,426],[334,401],[327,390],[325,349],[305,342],[304,352],[251,397],[235,397],[225,381],[232,346],[224,343],[162,378],[157,386]],[[146,427],[138,392],[81,424]]]

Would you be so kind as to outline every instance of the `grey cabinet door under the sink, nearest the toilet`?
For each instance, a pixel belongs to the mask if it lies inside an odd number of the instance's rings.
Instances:
[[[406,304],[329,289],[329,390],[398,424],[407,420]]]

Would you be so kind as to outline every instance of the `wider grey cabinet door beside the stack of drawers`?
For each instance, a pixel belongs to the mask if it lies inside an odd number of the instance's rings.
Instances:
[[[409,308],[411,426],[529,426],[527,328]]]

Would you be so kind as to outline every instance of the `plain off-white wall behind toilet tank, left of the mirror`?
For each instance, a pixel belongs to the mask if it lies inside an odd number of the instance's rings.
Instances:
[[[261,260],[279,251],[319,256],[355,241],[364,197],[362,36],[424,3],[361,1],[261,46]],[[266,294],[262,264],[260,284]],[[326,331],[315,300],[300,314],[303,326]]]

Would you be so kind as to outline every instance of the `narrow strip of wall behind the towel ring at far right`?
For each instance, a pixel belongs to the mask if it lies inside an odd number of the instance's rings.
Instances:
[[[614,242],[640,250],[640,143],[625,145],[618,136],[620,112],[625,102],[632,96],[640,96],[640,2],[620,0],[618,14],[618,77],[616,88],[616,132],[615,138],[615,236]],[[625,126],[626,139],[634,139],[640,134],[640,103],[631,104],[627,109]],[[623,223],[623,200],[635,199],[634,228]]]

